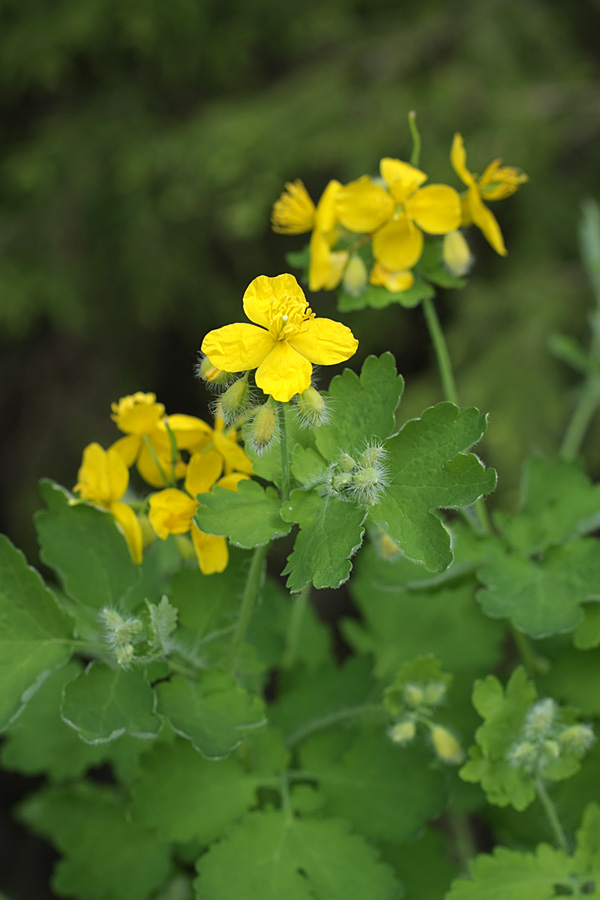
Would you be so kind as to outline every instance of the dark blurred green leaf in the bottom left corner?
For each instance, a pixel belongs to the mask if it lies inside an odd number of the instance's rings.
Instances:
[[[112,788],[49,788],[29,797],[19,818],[64,854],[52,878],[61,896],[150,900],[169,875],[168,845],[130,821]]]

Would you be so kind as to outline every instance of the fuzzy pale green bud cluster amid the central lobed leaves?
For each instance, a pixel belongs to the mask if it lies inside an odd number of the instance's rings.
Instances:
[[[375,441],[357,457],[342,453],[329,466],[328,489],[342,500],[354,500],[362,506],[373,506],[389,484],[385,464],[386,449]]]

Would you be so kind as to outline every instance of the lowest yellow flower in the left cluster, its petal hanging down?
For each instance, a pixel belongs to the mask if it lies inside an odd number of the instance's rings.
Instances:
[[[204,575],[222,572],[227,566],[229,554],[224,537],[204,534],[194,523],[194,514],[198,509],[196,496],[207,493],[215,484],[236,490],[240,479],[248,477],[243,472],[235,472],[219,480],[222,470],[223,459],[218,453],[194,453],[187,467],[185,490],[165,488],[150,497],[148,519],[158,537],[165,540],[170,534],[191,532],[198,565]]]

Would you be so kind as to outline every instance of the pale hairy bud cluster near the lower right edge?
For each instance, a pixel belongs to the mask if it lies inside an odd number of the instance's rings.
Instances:
[[[590,725],[565,725],[554,700],[540,700],[529,710],[509,761],[527,775],[543,775],[565,756],[583,756],[594,741]]]

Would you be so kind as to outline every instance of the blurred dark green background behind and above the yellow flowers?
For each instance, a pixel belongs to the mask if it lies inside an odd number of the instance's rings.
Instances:
[[[117,436],[119,396],[206,414],[203,335],[304,243],[270,231],[284,181],[318,197],[406,158],[410,109],[434,181],[459,186],[456,130],[473,171],[502,156],[530,176],[494,206],[508,258],[474,236],[470,286],[438,301],[512,498],[577,386],[547,342],[585,339],[592,303],[577,228],[600,194],[599,26],[585,0],[1,0],[1,529],[34,553],[38,478],[74,483],[83,446]],[[330,295],[311,303],[335,315]],[[407,416],[440,399],[420,309],[344,319],[356,365],[396,354]]]

